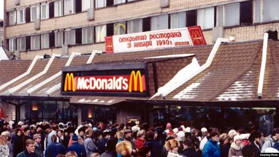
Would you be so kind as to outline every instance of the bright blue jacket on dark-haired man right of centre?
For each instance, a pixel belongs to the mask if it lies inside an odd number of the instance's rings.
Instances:
[[[209,140],[206,142],[204,149],[202,151],[202,157],[220,157],[220,148],[217,142],[214,142],[213,140]]]

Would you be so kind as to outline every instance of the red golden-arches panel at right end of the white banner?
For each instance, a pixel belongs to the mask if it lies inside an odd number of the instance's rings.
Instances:
[[[202,33],[202,29],[200,26],[196,27],[188,27],[188,31],[190,37],[192,39],[193,45],[206,45],[206,41],[204,39],[204,34]]]

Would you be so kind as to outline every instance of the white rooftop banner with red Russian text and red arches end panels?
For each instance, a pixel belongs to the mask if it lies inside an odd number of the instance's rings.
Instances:
[[[191,45],[206,45],[202,29],[199,26],[107,36],[105,40],[107,53]]]

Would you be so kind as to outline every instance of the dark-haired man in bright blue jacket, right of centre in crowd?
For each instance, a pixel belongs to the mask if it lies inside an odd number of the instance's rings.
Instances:
[[[210,133],[211,139],[206,142],[204,149],[202,150],[202,157],[220,157],[220,148],[218,145],[219,134],[216,132]]]

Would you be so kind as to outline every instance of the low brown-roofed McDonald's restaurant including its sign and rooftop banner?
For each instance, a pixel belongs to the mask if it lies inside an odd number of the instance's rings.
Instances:
[[[206,45],[202,31],[190,32],[107,37],[103,54],[0,61],[5,117],[29,123],[171,122],[222,131],[257,127],[271,133],[279,124],[278,41],[266,34],[263,40],[218,38]]]

